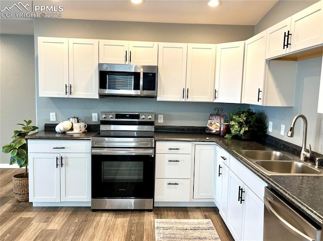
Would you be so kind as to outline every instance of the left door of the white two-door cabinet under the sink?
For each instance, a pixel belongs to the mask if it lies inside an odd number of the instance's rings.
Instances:
[[[243,182],[230,171],[227,226],[235,240],[241,240],[243,214],[243,204],[240,203],[241,189],[243,189]],[[244,195],[242,195],[242,198],[244,198]]]

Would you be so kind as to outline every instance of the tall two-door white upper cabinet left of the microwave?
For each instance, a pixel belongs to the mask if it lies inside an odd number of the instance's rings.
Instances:
[[[98,99],[98,40],[38,37],[40,97]]]

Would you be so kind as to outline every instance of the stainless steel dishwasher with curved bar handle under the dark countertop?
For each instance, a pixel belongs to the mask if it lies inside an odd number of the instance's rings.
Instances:
[[[321,227],[306,220],[268,188],[265,188],[264,206],[264,241],[320,240]]]

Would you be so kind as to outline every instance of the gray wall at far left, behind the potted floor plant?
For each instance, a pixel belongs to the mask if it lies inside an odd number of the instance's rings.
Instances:
[[[0,36],[0,145],[11,142],[17,123],[31,119],[36,124],[34,37]],[[0,163],[10,155],[1,152]]]

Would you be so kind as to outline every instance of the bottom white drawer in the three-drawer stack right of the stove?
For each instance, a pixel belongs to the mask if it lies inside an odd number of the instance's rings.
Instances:
[[[190,179],[155,179],[155,202],[189,202]]]

